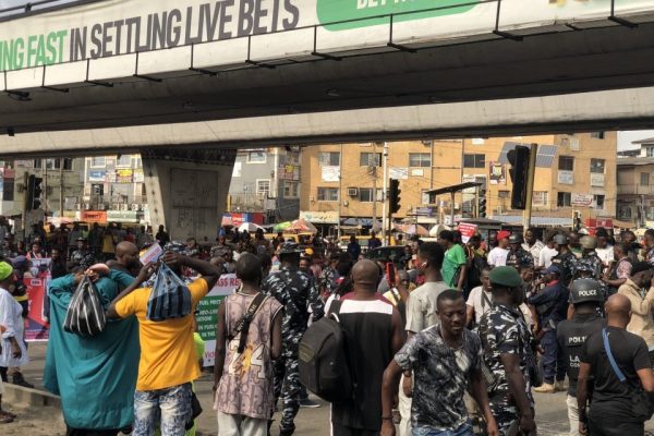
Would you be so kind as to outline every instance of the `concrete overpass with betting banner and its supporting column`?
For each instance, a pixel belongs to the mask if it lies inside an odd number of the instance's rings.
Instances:
[[[651,0],[53,1],[0,14],[0,157],[142,152],[210,234],[221,150],[651,128],[653,73]]]

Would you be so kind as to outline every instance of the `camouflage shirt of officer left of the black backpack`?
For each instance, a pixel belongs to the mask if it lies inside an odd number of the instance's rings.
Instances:
[[[284,308],[281,322],[281,337],[284,349],[296,349],[311,313],[313,320],[323,317],[324,304],[318,288],[306,272],[281,267],[278,272],[264,279],[262,292],[275,296]]]

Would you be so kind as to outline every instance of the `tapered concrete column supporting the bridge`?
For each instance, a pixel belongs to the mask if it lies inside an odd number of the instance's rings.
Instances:
[[[160,225],[171,240],[206,237],[215,241],[231,181],[230,149],[142,149],[147,203],[154,233]]]

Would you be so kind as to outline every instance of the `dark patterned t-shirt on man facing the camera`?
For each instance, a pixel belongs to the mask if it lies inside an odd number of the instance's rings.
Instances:
[[[468,329],[456,350],[443,340],[439,325],[412,336],[395,356],[402,370],[413,371],[411,425],[453,431],[465,423],[463,395],[482,359],[480,338]]]

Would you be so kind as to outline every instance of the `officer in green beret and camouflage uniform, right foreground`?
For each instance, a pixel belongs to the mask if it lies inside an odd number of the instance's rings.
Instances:
[[[529,368],[534,364],[532,335],[520,304],[522,280],[516,268],[498,266],[488,276],[493,307],[480,322],[484,365],[492,374],[488,399],[500,435],[518,422],[522,435],[535,435],[534,400]],[[510,382],[509,382],[510,380]]]

